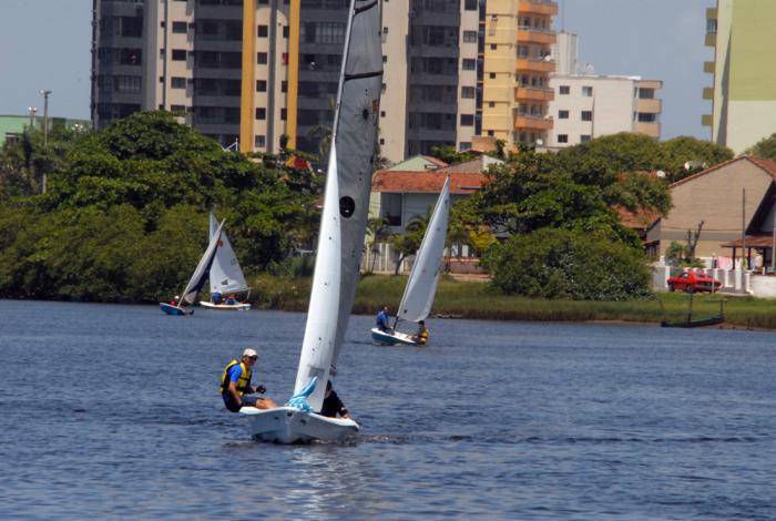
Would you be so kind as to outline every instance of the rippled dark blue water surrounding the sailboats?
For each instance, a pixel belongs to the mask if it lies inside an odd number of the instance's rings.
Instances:
[[[255,442],[217,391],[305,315],[0,300],[0,519],[776,519],[776,334],[353,317],[355,443]],[[255,379],[254,379],[255,381]]]

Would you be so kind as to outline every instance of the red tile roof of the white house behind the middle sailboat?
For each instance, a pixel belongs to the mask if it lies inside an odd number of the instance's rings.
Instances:
[[[450,193],[471,194],[482,186],[486,176],[481,173],[442,172],[439,168],[431,172],[385,172],[375,174],[371,182],[374,192],[392,193],[439,193],[445,180],[450,176]]]

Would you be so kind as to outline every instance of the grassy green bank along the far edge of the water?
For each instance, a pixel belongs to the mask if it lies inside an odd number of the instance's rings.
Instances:
[[[388,305],[396,309],[407,277],[370,275],[361,278],[354,313],[370,315]],[[310,279],[285,279],[261,275],[251,280],[251,299],[265,309],[307,310]],[[776,329],[776,302],[751,297],[725,298],[728,325]],[[719,296],[695,295],[693,316],[705,318],[719,311]],[[686,317],[687,295],[660,294],[632,302],[542,300],[502,295],[489,284],[442,278],[433,303],[433,315],[461,318],[537,321],[681,320]]]

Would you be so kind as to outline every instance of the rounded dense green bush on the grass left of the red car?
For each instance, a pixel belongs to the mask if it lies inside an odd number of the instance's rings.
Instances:
[[[574,300],[650,295],[643,253],[595,234],[541,228],[491,247],[483,263],[507,294]]]

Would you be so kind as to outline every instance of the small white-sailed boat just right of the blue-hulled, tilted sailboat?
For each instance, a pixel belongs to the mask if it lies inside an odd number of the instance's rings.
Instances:
[[[211,239],[215,235],[217,228],[218,222],[213,215],[213,212],[211,212]],[[221,241],[218,241],[218,247],[216,248],[215,258],[213,259],[213,266],[211,266],[212,302],[200,300],[200,305],[208,309],[247,311],[251,309],[251,304],[233,298],[234,295],[243,293],[249,295],[251,288],[245,282],[245,276],[239,268],[239,263],[237,262],[237,256],[234,254],[234,249],[232,249],[229,238],[226,236],[226,232],[222,231]],[[216,295],[218,298],[215,298]]]

